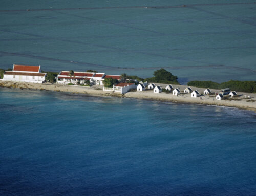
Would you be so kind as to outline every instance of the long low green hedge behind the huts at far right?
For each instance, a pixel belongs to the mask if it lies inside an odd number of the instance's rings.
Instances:
[[[190,81],[189,86],[211,89],[230,88],[232,91],[241,91],[246,93],[256,93],[256,81],[237,81],[230,80],[227,82],[217,83],[212,81]]]

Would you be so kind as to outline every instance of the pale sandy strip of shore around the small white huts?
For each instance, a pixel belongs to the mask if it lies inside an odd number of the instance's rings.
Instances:
[[[157,84],[165,88],[167,84]],[[237,107],[244,110],[256,111],[256,94],[254,93],[243,93],[237,92],[238,97],[233,99],[226,100],[215,100],[215,96],[202,95],[201,97],[192,98],[191,94],[181,94],[175,96],[171,93],[153,93],[153,90],[146,91],[136,91],[128,92],[124,95],[120,93],[115,93],[112,91],[103,91],[103,86],[94,85],[91,87],[88,86],[75,86],[75,85],[61,85],[61,84],[51,84],[51,83],[26,83],[26,82],[7,82],[0,80],[0,87],[6,88],[19,88],[19,89],[33,89],[33,90],[47,90],[47,91],[57,91],[57,92],[68,92],[76,94],[87,94],[91,96],[113,96],[113,97],[127,97],[127,98],[136,98],[136,99],[147,99],[147,100],[157,100],[165,102],[176,102],[176,103],[192,103],[192,104],[203,104],[203,105],[218,105],[218,106],[228,106],[228,107]],[[180,88],[183,91],[187,86],[186,85],[173,85],[174,88]],[[193,90],[198,90],[200,93],[203,93],[205,89],[196,88],[190,86]],[[212,92],[219,92],[219,90],[211,89]],[[250,99],[245,99],[244,95],[250,96]],[[201,99],[202,98],[202,99]]]

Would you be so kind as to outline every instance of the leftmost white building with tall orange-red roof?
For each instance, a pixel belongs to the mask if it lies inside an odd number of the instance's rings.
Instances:
[[[42,83],[47,73],[40,72],[41,66],[24,66],[13,64],[12,71],[5,71],[4,81]]]

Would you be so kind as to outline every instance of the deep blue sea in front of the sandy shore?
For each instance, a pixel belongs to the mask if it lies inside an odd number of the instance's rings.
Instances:
[[[256,113],[0,89],[0,195],[255,195]]]

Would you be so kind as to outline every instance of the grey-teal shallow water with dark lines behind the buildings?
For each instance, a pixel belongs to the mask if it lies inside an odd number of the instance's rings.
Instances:
[[[41,64],[49,71],[151,77],[163,67],[181,83],[256,78],[254,1],[3,0],[0,5],[2,68]]]

